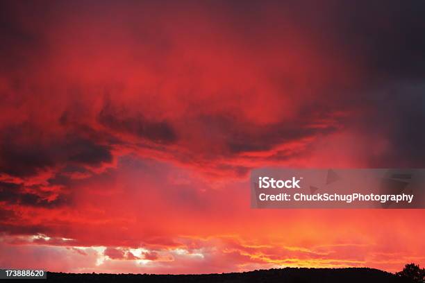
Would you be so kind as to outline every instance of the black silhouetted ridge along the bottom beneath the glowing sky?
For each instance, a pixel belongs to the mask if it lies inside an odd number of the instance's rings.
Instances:
[[[38,282],[40,282],[38,280]],[[47,282],[279,282],[351,283],[410,282],[392,273],[372,268],[279,268],[243,273],[203,275],[149,275],[106,273],[47,273]]]

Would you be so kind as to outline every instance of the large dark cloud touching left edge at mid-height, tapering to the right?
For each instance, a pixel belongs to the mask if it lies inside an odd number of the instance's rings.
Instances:
[[[35,175],[64,164],[99,166],[113,158],[108,145],[71,133],[49,137],[30,123],[3,128],[0,138],[0,171],[9,175]]]

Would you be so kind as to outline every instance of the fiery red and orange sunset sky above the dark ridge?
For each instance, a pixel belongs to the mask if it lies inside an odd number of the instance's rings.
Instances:
[[[249,173],[423,168],[424,1],[1,1],[0,267],[425,265],[423,209],[251,209]]]

